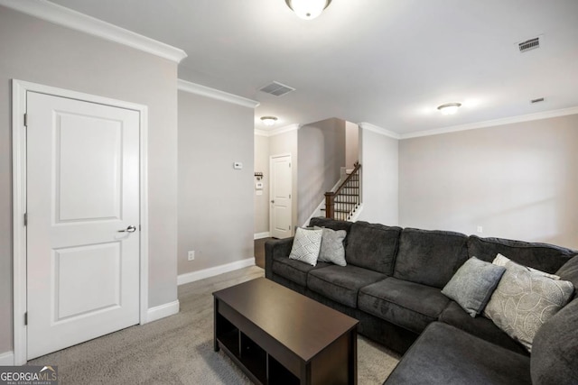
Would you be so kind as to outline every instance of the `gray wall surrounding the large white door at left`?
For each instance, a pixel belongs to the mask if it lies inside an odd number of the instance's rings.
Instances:
[[[2,6],[0,36],[0,353],[13,350],[13,78],[148,105],[149,307],[176,300],[177,64]]]

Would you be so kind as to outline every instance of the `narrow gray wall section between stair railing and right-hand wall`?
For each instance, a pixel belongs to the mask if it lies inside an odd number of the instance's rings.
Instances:
[[[359,126],[361,202],[359,220],[397,225],[398,140]]]

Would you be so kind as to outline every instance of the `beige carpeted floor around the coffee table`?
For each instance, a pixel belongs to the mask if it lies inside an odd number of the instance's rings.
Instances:
[[[65,384],[250,384],[213,351],[213,291],[263,276],[249,267],[179,287],[179,314],[135,325],[28,362],[58,365]],[[359,384],[381,384],[399,356],[359,336]]]

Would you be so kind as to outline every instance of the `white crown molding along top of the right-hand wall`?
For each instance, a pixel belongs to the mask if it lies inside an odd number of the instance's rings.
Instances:
[[[460,131],[468,131],[468,130],[476,130],[479,128],[488,128],[488,127],[495,127],[497,125],[503,124],[514,124],[514,123],[523,123],[523,122],[531,122],[533,120],[540,120],[540,119],[548,119],[558,116],[565,116],[565,115],[574,115],[578,114],[578,106],[564,108],[560,110],[552,110],[552,111],[545,111],[536,114],[527,114],[527,115],[517,115],[511,116],[501,119],[494,119],[489,120],[486,122],[478,122],[478,123],[471,123],[471,124],[461,124],[461,125],[452,125],[450,127],[443,127],[443,128],[435,128],[433,130],[426,130],[426,131],[418,131],[416,133],[402,133],[399,139],[411,139],[411,138],[419,138],[422,136],[431,136],[431,135],[439,135],[442,133],[457,133]]]

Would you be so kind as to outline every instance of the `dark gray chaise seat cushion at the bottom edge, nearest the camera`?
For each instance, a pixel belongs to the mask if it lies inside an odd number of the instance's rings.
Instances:
[[[415,341],[385,384],[529,384],[530,358],[434,322]]]

